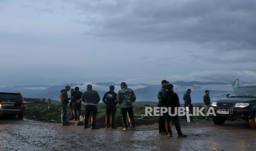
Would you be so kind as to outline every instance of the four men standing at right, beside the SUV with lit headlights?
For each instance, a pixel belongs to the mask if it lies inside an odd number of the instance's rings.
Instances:
[[[158,93],[158,106],[159,107],[171,107],[171,113],[175,112],[175,107],[180,107],[179,104],[179,97],[178,95],[173,91],[173,85],[167,82],[167,80],[162,80],[161,82],[162,87],[159,90]],[[189,108],[189,112],[193,113],[193,104],[191,101],[191,94],[192,90],[188,89],[185,94],[183,95],[184,100],[184,107]],[[210,91],[206,90],[205,95],[203,97],[205,107],[208,109],[210,106]],[[187,135],[184,135],[181,131],[181,125],[179,124],[179,117],[176,116],[170,116],[168,113],[165,113],[164,116],[159,117],[159,133],[167,133],[168,137],[172,137],[172,130],[170,123],[175,124],[176,130],[178,132],[178,137],[187,137]]]

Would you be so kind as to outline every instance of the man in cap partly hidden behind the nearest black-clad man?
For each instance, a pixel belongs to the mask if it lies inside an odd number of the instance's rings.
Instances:
[[[162,96],[165,94],[166,92],[166,85],[168,84],[169,82],[167,82],[167,80],[162,80],[161,84],[162,84],[162,87],[160,88],[159,92],[158,92],[158,107],[163,107],[162,105]],[[160,116],[159,117],[159,133],[162,133],[162,132],[166,132],[166,129],[165,129],[165,117],[164,116]]]

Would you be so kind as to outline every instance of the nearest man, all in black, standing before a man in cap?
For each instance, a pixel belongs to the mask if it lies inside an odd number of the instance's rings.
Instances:
[[[173,92],[173,85],[172,84],[167,84],[166,85],[167,91],[166,93],[162,96],[162,104],[165,107],[171,107],[171,113],[175,113],[175,108],[180,107],[179,104],[179,97],[178,95]],[[172,130],[171,130],[171,120],[175,124],[176,130],[178,132],[178,137],[187,137],[187,135],[184,135],[181,132],[181,125],[179,124],[179,117],[178,115],[175,116],[170,116],[168,113],[165,113],[165,127],[166,131],[168,133],[168,137],[172,137]]]

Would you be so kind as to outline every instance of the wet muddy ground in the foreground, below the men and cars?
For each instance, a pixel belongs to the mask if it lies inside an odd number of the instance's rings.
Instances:
[[[256,131],[242,121],[216,126],[210,120],[182,123],[187,138],[167,138],[157,124],[140,125],[134,131],[90,130],[62,127],[14,118],[0,119],[0,150],[256,150]]]

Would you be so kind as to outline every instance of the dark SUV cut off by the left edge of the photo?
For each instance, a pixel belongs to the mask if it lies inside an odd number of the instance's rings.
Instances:
[[[0,92],[0,116],[1,115],[18,115],[23,119],[26,109],[26,102],[20,93]]]

